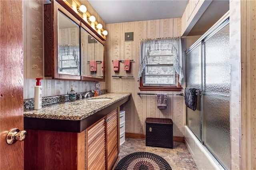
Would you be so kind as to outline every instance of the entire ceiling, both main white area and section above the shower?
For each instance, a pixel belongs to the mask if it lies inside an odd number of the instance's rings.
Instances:
[[[188,0],[88,0],[106,24],[181,18]],[[202,35],[229,10],[229,0],[212,0],[188,36]]]

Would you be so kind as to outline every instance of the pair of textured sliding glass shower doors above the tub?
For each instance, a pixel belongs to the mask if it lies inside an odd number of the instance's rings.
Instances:
[[[229,19],[186,53],[186,87],[202,90],[187,126],[207,150],[230,169]]]

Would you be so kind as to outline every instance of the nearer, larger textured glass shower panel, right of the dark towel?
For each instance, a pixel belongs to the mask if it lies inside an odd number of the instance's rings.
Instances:
[[[230,169],[229,25],[203,43],[202,140]]]

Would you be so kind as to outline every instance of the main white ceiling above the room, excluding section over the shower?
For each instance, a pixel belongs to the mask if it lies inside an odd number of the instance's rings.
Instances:
[[[106,24],[181,18],[188,0],[88,0]]]

